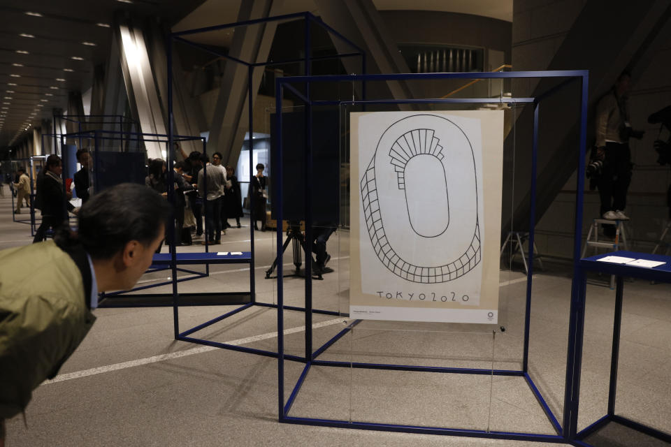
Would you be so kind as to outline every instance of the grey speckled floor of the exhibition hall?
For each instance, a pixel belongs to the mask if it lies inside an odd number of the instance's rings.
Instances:
[[[29,227],[13,223],[8,191],[0,198],[0,248],[30,242]],[[245,225],[248,222],[243,221]],[[276,282],[264,279],[274,256],[275,233],[257,233],[256,287],[259,300],[275,302]],[[225,251],[249,247],[248,228],[233,228],[222,240]],[[338,254],[338,249],[341,251]],[[199,251],[200,247],[185,247]],[[335,272],[315,281],[315,307],[347,312],[347,233],[329,241]],[[286,263],[291,262],[289,251]],[[289,268],[289,266],[287,266]],[[551,409],[561,419],[570,278],[547,265],[533,287],[530,372]],[[143,280],[164,278],[164,273]],[[502,281],[519,279],[504,272]],[[145,283],[150,284],[150,283]],[[212,268],[208,279],[180,284],[180,291],[245,290],[249,271],[229,265]],[[303,281],[285,279],[287,302],[301,305]],[[169,292],[170,286],[152,291]],[[336,342],[325,360],[389,362],[496,369],[521,367],[526,282],[500,288],[504,333],[486,328],[412,323],[361,323]],[[627,282],[622,325],[619,399],[624,416],[671,431],[671,287]],[[581,427],[605,413],[612,336],[614,292],[588,286]],[[180,328],[207,321],[231,307],[180,309]],[[165,353],[191,353],[197,345],[173,340],[168,308],[98,309],[91,334],[60,374],[117,365]],[[249,309],[197,333],[230,341],[276,330],[274,309]],[[333,316],[315,315],[329,322]],[[345,321],[345,318],[342,318]],[[303,314],[287,312],[285,328],[304,324]],[[315,329],[319,346],[344,327],[333,322]],[[468,332],[468,333],[466,333]],[[285,337],[287,352],[301,353],[303,332]],[[245,346],[277,349],[277,339]],[[285,395],[302,365],[286,362]],[[364,420],[377,423],[442,425],[478,430],[552,433],[524,379],[507,376],[408,373],[373,369],[312,367],[291,409],[294,416]],[[219,349],[101,374],[46,383],[29,405],[27,427],[19,416],[8,421],[8,446],[534,446],[531,442],[438,437],[342,430],[277,423],[277,360]],[[656,445],[618,427],[592,439],[599,445]]]

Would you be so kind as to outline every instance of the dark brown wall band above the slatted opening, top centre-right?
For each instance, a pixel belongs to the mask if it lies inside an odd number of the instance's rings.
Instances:
[[[396,43],[466,45],[505,52],[511,60],[512,22],[480,15],[435,11],[383,10]]]

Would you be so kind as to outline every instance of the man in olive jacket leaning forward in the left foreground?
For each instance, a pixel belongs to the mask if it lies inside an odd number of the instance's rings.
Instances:
[[[119,184],[81,207],[76,233],[62,227],[52,241],[0,251],[0,446],[4,421],[89,332],[98,293],[133,288],[149,268],[169,213],[154,191]]]

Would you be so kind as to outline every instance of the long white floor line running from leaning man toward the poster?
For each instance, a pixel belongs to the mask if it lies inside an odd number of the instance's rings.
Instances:
[[[334,318],[333,320],[322,321],[321,323],[315,323],[312,325],[313,329],[324,328],[326,326],[343,323],[347,321],[347,318]],[[303,332],[305,326],[298,326],[296,328],[291,328],[284,330],[284,335],[295,334],[296,332]],[[240,338],[237,340],[232,340],[231,342],[224,342],[226,344],[233,344],[234,346],[240,346],[243,344],[259,342],[260,340],[266,340],[269,338],[276,338],[277,332],[268,332],[266,334],[254,335],[252,337]],[[138,360],[130,360],[128,362],[115,363],[114,365],[101,366],[91,369],[84,369],[77,372],[68,372],[67,374],[59,374],[51,380],[46,380],[42,384],[48,385],[49,383],[57,383],[66,380],[80,379],[82,377],[94,376],[96,374],[103,374],[110,371],[118,371],[119,369],[127,369],[131,367],[136,367],[140,365],[149,365],[150,363],[163,362],[165,360],[172,360],[173,358],[180,358],[186,356],[193,356],[194,354],[200,354],[208,351],[215,351],[214,346],[199,346],[198,348],[186,349],[185,351],[171,352],[167,354],[160,354],[159,356],[152,356],[147,358],[139,358]]]

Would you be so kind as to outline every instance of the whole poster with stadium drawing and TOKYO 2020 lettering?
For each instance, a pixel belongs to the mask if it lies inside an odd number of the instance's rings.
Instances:
[[[350,125],[350,316],[497,323],[503,111]]]

